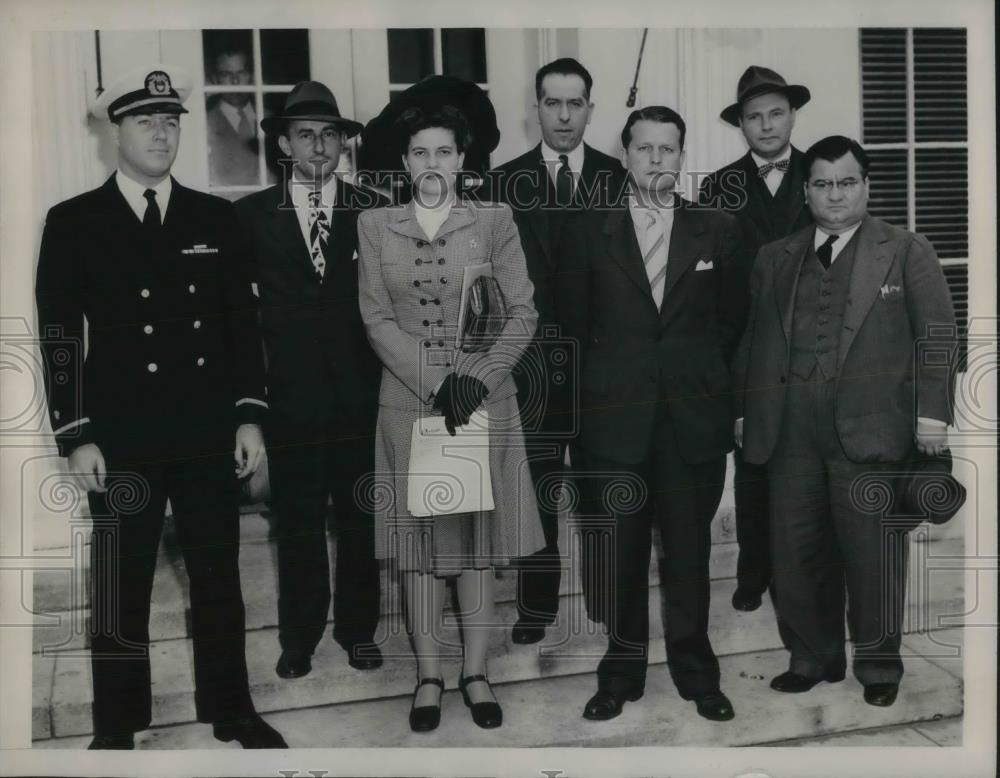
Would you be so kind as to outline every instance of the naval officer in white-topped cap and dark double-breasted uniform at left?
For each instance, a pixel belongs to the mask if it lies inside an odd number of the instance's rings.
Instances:
[[[237,478],[263,456],[267,410],[255,300],[232,205],[170,176],[189,92],[177,68],[153,65],[101,95],[92,110],[111,121],[118,169],[49,211],[38,260],[49,417],[94,522],[92,749],[131,749],[151,723],[167,500],[198,720],[244,748],[287,747],[250,697],[238,567]]]

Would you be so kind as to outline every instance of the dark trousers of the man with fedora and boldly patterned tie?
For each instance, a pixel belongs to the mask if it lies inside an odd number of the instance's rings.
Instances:
[[[345,650],[372,640],[379,619],[379,567],[370,509],[356,497],[371,473],[375,422],[345,412],[325,428],[273,422],[268,436],[273,506],[278,517],[278,639],[311,655],[326,628],[333,588],[334,638]],[[363,486],[363,484],[362,484]],[[337,557],[327,550],[332,499]]]

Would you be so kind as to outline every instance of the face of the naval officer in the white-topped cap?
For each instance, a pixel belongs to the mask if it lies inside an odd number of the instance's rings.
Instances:
[[[167,177],[181,136],[177,114],[135,114],[111,126],[118,145],[118,167],[125,175],[146,186]]]

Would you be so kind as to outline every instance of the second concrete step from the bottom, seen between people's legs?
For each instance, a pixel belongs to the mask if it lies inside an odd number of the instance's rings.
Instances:
[[[906,643],[913,656],[928,654],[941,664],[954,663],[960,658],[958,648],[938,643],[926,636],[932,624],[944,616],[962,613],[963,575],[952,571],[949,577],[934,576],[934,588],[929,600],[912,609],[904,621],[904,630],[913,633],[914,642]],[[719,579],[712,583],[710,636],[720,657],[778,649],[781,646],[775,628],[774,614],[768,599],[753,613],[732,610],[729,596],[733,582]],[[666,660],[663,643],[664,621],[657,589],[650,593],[650,663]],[[549,628],[546,638],[538,645],[518,646],[510,643],[509,625],[516,618],[512,602],[498,604],[497,628],[489,650],[491,677],[500,683],[526,681],[561,675],[593,672],[605,649],[605,638],[599,627],[586,619],[582,597],[564,596],[559,619]],[[935,636],[951,633],[933,633]],[[439,633],[443,645],[449,646],[446,671],[457,676],[461,663],[461,643],[457,625],[445,614]],[[398,615],[383,618],[376,640],[386,658],[385,665],[374,672],[359,672],[347,664],[342,649],[332,640],[324,639],[313,657],[313,671],[304,679],[283,681],[274,673],[279,653],[277,630],[274,627],[256,629],[247,634],[247,662],[251,689],[261,711],[315,707],[364,699],[407,694],[414,682],[414,661],[405,625]],[[919,647],[917,650],[916,647]],[[155,640],[150,647],[153,669],[153,693],[160,723],[192,720],[194,683],[191,664],[191,641],[184,638]],[[92,699],[90,663],[86,651],[63,651],[52,657],[36,655],[34,716],[37,738],[66,736],[90,731]],[[947,669],[946,669],[947,671]],[[961,675],[960,661],[957,675]],[[47,694],[46,694],[47,690]]]

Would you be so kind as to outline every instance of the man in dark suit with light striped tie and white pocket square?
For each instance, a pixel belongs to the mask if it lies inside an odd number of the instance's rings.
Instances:
[[[585,508],[614,522],[608,648],[583,712],[591,720],[643,694],[654,524],[671,677],[701,716],[734,715],[708,639],[708,561],[732,450],[728,366],[742,272],[733,217],[673,191],[684,134],[670,108],[633,111],[621,134],[629,196],[580,214],[563,238],[557,315],[582,347]]]

